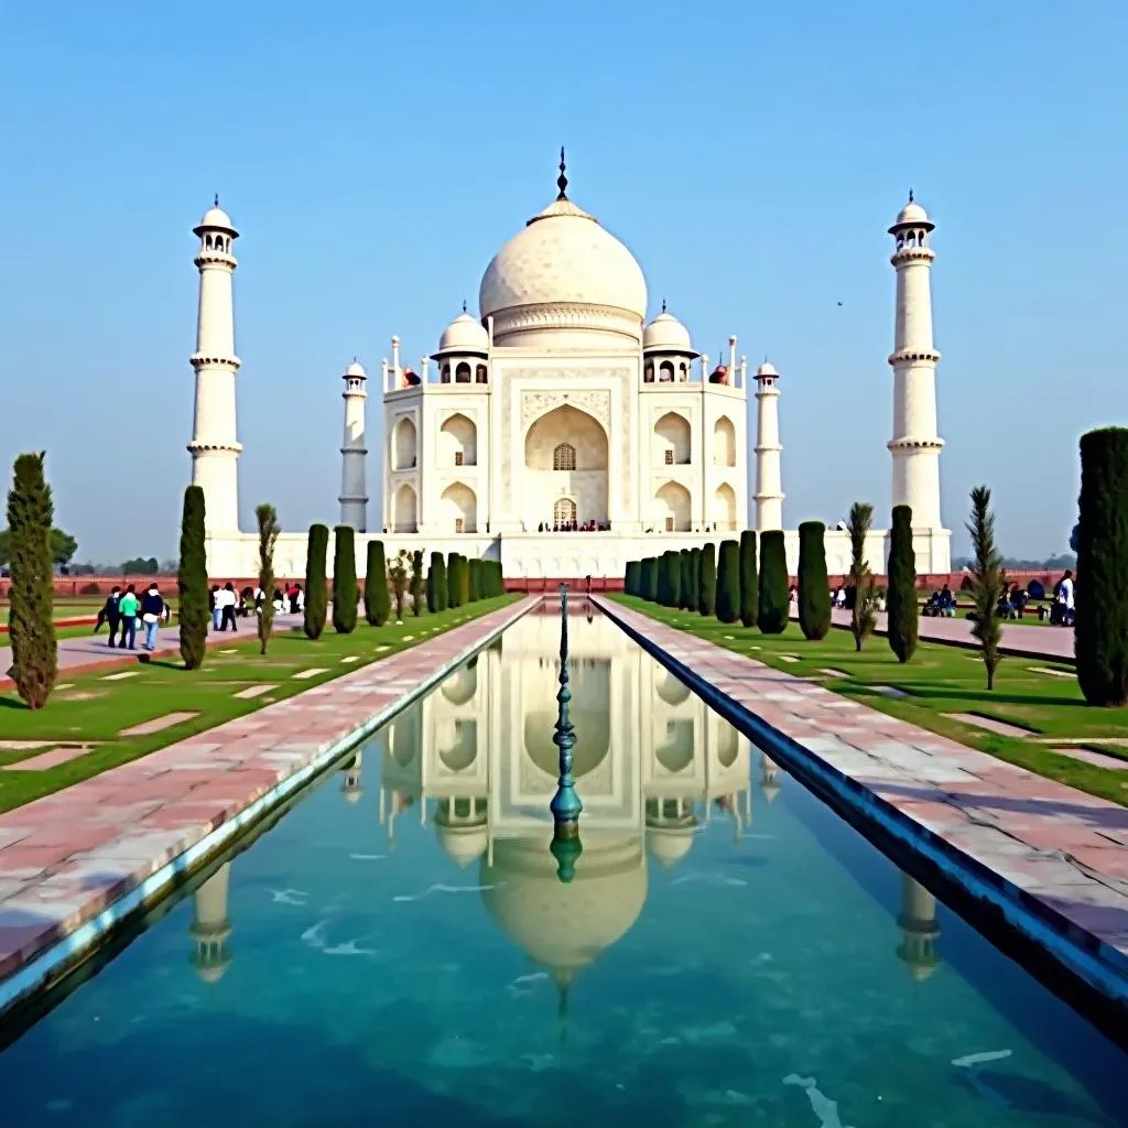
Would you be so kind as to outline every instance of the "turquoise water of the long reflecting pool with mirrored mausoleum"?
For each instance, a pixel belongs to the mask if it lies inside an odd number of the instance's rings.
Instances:
[[[157,914],[0,1055],[0,1123],[1128,1123],[1120,1050],[582,615],[562,884],[557,638],[521,620]]]

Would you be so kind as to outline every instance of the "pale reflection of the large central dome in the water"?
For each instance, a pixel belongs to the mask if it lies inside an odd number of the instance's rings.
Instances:
[[[635,837],[583,835],[575,878],[556,878],[549,835],[502,839],[485,861],[482,899],[494,924],[537,964],[565,978],[620,940],[646,900],[646,867]]]

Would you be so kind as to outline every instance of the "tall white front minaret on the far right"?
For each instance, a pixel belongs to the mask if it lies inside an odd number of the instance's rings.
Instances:
[[[936,362],[932,343],[932,263],[928,232],[936,224],[913,200],[889,233],[897,247],[889,261],[897,270],[893,326],[893,505],[913,509],[914,529],[940,529],[940,451],[936,433]]]

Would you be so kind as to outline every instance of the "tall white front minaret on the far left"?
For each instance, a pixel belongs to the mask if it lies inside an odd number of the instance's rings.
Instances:
[[[235,302],[232,281],[238,265],[231,245],[239,232],[215,203],[193,233],[200,239],[194,259],[200,271],[196,351],[190,358],[196,371],[196,406],[188,453],[192,484],[204,492],[208,536],[239,532],[239,446],[235,426]]]

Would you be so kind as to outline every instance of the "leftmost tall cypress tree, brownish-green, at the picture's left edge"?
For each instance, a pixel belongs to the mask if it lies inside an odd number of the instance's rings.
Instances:
[[[59,673],[54,570],[51,566],[54,504],[43,473],[45,457],[44,453],[20,455],[12,466],[8,493],[11,677],[19,696],[32,710],[43,708],[47,703]]]

